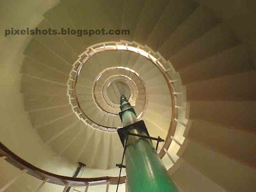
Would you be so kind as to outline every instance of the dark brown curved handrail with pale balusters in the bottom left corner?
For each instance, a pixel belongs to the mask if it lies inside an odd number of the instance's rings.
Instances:
[[[4,192],[7,188],[9,188],[15,181],[20,179],[25,173],[35,177],[36,179],[42,180],[42,183],[35,189],[35,192],[40,191],[42,187],[48,182],[51,184],[56,184],[63,186],[63,192],[67,191],[68,187],[75,189],[76,191],[80,191],[77,188],[85,188],[85,191],[88,191],[89,186],[96,185],[105,185],[106,191],[109,189],[109,184],[117,184],[118,177],[93,177],[93,178],[74,178],[74,177],[66,177],[63,175],[56,175],[54,173],[46,172],[33,166],[33,164],[28,163],[24,159],[20,158],[16,154],[14,154],[10,149],[3,145],[0,142],[0,161],[6,161],[19,170],[21,172],[18,175],[15,175],[13,179],[4,184],[4,186],[0,186],[0,192]],[[120,183],[125,183],[125,176],[121,177]]]

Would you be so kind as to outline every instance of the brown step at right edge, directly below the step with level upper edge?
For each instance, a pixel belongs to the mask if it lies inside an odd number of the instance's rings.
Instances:
[[[207,134],[205,134],[207,132]],[[212,148],[230,159],[256,167],[255,134],[223,125],[211,124],[203,120],[193,120],[186,138],[200,145]]]

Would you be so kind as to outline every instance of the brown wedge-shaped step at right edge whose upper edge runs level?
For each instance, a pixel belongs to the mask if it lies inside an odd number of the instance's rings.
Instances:
[[[193,101],[189,119],[200,119],[232,129],[255,132],[254,101]]]

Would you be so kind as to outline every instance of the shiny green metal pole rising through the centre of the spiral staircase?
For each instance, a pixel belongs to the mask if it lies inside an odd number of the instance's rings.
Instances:
[[[128,100],[121,96],[120,108],[124,127],[138,122],[136,114],[125,111],[131,108]],[[135,134],[147,134],[140,129],[131,129]],[[177,192],[170,175],[164,167],[150,140],[129,135],[125,150],[125,170],[129,192]]]

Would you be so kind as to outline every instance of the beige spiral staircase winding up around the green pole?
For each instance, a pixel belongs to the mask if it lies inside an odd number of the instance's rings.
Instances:
[[[1,31],[131,32],[1,36],[0,136],[12,152],[67,177],[84,163],[81,177],[98,178],[85,190],[115,191],[105,176],[119,173],[124,94],[150,136],[165,140],[157,153],[180,191],[255,191],[254,1],[0,2]],[[23,173],[5,157],[0,191]],[[33,174],[4,191],[37,190],[44,179]],[[40,191],[63,186],[44,182]]]

